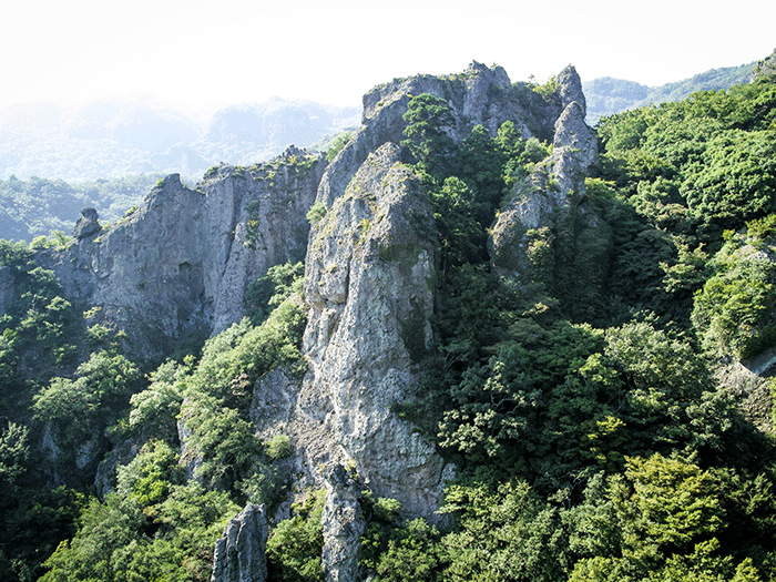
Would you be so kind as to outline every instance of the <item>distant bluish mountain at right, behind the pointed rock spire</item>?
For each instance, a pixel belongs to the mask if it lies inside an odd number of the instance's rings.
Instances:
[[[747,83],[756,68],[757,62],[712,69],[691,79],[653,88],[611,76],[593,79],[582,83],[588,102],[588,123],[593,125],[600,118],[650,103],[681,101],[696,91],[729,89],[739,83]]]

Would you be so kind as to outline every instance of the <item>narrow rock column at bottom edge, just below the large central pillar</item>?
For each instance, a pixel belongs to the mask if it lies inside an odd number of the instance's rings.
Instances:
[[[366,529],[360,503],[361,487],[363,483],[341,464],[336,464],[326,474],[321,563],[327,582],[360,580],[358,549]]]

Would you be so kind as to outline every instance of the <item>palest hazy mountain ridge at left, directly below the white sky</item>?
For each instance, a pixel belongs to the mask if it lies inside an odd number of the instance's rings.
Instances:
[[[221,162],[256,163],[290,144],[308,147],[359,118],[360,106],[278,98],[228,106],[204,122],[140,99],[17,105],[0,111],[0,178],[198,178]]]

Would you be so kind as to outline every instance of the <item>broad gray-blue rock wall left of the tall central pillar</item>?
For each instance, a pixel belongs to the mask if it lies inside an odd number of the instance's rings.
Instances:
[[[245,314],[246,287],[273,265],[302,261],[321,155],[289,149],[248,170],[221,166],[192,190],[167,176],[144,206],[100,236],[43,257],[67,296],[101,307],[146,358],[186,337],[207,337]],[[94,233],[92,233],[94,234]]]

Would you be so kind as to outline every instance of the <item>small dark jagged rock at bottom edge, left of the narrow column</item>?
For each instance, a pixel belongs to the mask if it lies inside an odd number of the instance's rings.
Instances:
[[[264,582],[268,532],[264,506],[245,506],[215,543],[211,582]]]

